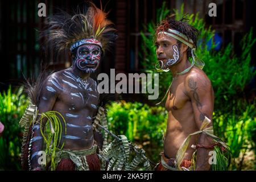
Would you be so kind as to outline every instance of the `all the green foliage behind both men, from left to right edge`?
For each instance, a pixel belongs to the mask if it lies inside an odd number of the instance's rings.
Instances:
[[[163,4],[162,9],[157,11],[157,21],[145,25],[150,35],[141,33],[143,39],[141,64],[145,68],[144,72],[156,72],[156,53],[152,42],[155,24],[170,13]],[[177,20],[181,19],[184,14],[183,6],[180,10],[175,10],[174,14]],[[217,45],[213,41],[212,46],[207,47],[207,42],[214,36],[214,30],[207,28],[198,14],[187,15],[186,18],[189,19],[189,24],[200,31],[196,54],[204,60],[203,70],[212,81],[214,89],[214,134],[228,143],[236,159],[230,169],[256,169],[256,101],[255,98],[247,100],[245,90],[256,73],[250,66],[250,52],[256,41],[252,30],[241,40],[242,54],[236,55],[232,53],[231,44],[221,51],[214,51]],[[170,73],[159,73],[159,100],[150,105],[160,101],[171,79]],[[7,92],[0,93],[0,121],[5,125],[5,131],[0,138],[0,170],[20,169],[22,130],[18,123],[27,104],[22,88],[15,91],[10,88]],[[114,102],[108,106],[109,129],[117,135],[125,134],[129,140],[143,147],[147,157],[155,163],[159,161],[159,153],[163,150],[162,137],[166,130],[166,121],[167,111],[162,106],[125,101]],[[246,159],[250,152],[253,152],[254,160]]]

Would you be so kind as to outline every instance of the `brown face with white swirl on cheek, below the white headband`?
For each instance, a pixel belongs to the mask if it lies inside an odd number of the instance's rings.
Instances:
[[[162,69],[167,69],[179,61],[180,52],[176,39],[160,34],[156,39],[155,45],[158,61]]]

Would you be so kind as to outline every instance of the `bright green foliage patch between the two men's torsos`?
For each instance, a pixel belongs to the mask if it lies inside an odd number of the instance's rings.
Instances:
[[[164,107],[150,107],[140,102],[113,103],[108,106],[108,125],[115,134],[124,134],[143,147],[146,155],[157,162],[163,150],[163,133],[167,111]]]

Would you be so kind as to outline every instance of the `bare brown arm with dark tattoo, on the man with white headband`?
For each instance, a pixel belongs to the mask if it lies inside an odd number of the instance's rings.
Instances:
[[[199,68],[193,69],[185,80],[185,92],[191,99],[197,129],[200,130],[205,117],[211,121],[207,127],[212,126],[214,92],[207,75]],[[212,139],[205,134],[200,134],[198,143],[209,146],[212,144]],[[200,157],[197,157],[196,170],[209,170],[209,152],[210,149],[197,149],[197,156]]]

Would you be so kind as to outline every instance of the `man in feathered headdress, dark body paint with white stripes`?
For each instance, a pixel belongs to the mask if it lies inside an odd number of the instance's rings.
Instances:
[[[36,85],[28,89],[33,105],[21,123],[28,121],[30,113],[34,119],[24,132],[23,169],[42,170],[45,152],[51,169],[104,169],[103,159],[97,155],[98,146],[102,144],[97,138],[101,139],[101,135],[92,125],[99,93],[90,73],[96,71],[102,53],[114,43],[116,30],[106,19],[106,13],[93,3],[75,15],[53,15],[47,25],[42,33],[46,46],[57,55],[69,49],[73,64],[49,76],[40,75]],[[47,121],[50,132],[44,135]]]

